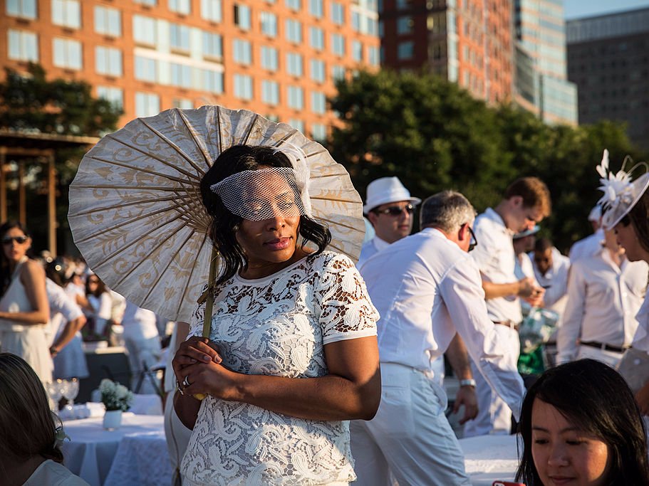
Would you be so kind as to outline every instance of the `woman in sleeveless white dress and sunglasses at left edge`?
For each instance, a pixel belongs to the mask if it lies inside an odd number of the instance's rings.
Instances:
[[[25,359],[43,383],[51,381],[45,270],[28,258],[31,237],[21,223],[3,223],[0,243],[0,350]]]

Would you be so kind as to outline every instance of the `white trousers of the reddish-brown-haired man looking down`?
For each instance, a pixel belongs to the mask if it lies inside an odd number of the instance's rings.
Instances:
[[[499,339],[504,342],[504,349],[510,352],[505,356],[504,365],[516,369],[521,342],[519,333],[514,329],[500,324],[496,325]],[[478,415],[472,421],[464,424],[464,437],[475,437],[487,434],[508,434],[512,430],[512,411],[507,403],[493,391],[491,385],[484,379],[478,367],[471,360],[471,371],[475,379],[475,393],[478,398]]]

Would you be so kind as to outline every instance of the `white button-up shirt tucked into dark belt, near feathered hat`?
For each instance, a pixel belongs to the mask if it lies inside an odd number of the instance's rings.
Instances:
[[[591,258],[573,262],[568,303],[557,334],[557,361],[576,359],[577,339],[616,347],[630,346],[647,287],[649,266],[623,260],[621,267],[602,248]]]

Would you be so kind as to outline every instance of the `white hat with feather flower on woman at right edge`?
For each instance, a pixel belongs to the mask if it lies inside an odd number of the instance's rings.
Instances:
[[[606,230],[613,229],[640,201],[649,187],[648,165],[640,162],[625,171],[624,167],[629,161],[630,157],[625,157],[622,169],[613,174],[608,169],[608,150],[604,149],[602,162],[597,166],[597,172],[601,176],[601,186],[598,189],[604,193],[597,204],[602,207],[602,226]],[[632,181],[631,174],[638,168],[644,168],[645,173]]]

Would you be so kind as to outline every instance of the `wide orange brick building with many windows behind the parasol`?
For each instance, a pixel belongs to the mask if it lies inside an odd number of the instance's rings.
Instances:
[[[379,65],[376,0],[3,3],[0,65],[33,61],[50,78],[86,80],[123,107],[120,125],[220,104],[324,139],[335,80]]]

